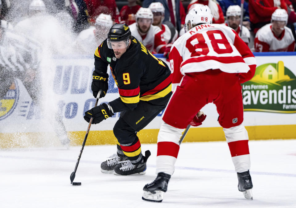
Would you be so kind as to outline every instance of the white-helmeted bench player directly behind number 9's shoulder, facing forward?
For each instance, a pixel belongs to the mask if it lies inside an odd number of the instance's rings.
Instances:
[[[162,30],[152,25],[153,14],[150,9],[141,7],[136,13],[136,22],[131,24],[132,35],[151,52],[163,53],[166,42],[161,39]]]

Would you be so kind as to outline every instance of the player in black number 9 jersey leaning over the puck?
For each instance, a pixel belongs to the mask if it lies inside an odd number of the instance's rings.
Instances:
[[[93,96],[104,97],[108,90],[107,66],[120,97],[85,112],[84,119],[100,123],[120,112],[113,128],[117,155],[101,164],[101,171],[118,175],[145,174],[150,151],[143,156],[137,132],[150,123],[167,105],[171,92],[171,71],[136,38],[126,24],[114,24],[108,38],[95,51],[92,76]]]

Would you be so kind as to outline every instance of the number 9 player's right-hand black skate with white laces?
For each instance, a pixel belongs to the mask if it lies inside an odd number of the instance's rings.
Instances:
[[[145,170],[147,167],[146,162],[150,155],[151,155],[150,151],[147,150],[145,152],[145,156],[142,156],[143,157],[142,161],[136,165],[132,164],[130,161],[120,162],[121,164],[118,164],[115,166],[114,174],[123,175],[123,176],[145,174],[146,173]]]

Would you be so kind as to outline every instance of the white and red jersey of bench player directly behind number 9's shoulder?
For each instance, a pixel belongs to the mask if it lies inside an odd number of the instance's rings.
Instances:
[[[162,30],[159,27],[151,25],[146,35],[141,36],[135,22],[130,25],[130,31],[149,51],[155,51],[156,53],[164,52],[166,42],[161,39]]]

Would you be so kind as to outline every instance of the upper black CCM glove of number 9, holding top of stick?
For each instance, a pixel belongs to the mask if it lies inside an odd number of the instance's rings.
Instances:
[[[105,97],[108,90],[108,78],[109,74],[93,71],[92,72],[92,95],[97,98],[98,92],[102,90],[99,98]]]

